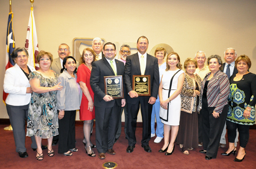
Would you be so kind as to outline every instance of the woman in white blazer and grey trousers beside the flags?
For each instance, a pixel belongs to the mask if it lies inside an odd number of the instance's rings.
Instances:
[[[4,91],[8,94],[6,102],[7,113],[13,127],[16,152],[22,158],[27,157],[25,148],[25,119],[28,116],[28,104],[31,99],[32,88],[28,75],[35,71],[34,67],[27,65],[28,53],[25,48],[16,48],[11,57],[15,63],[12,68],[6,70],[4,79]],[[37,148],[35,138],[31,137],[33,150]]]

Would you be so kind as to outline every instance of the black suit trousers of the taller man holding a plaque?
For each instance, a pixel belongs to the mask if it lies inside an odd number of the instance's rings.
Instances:
[[[149,97],[139,96],[139,101],[136,104],[128,103],[128,120],[127,120],[127,138],[128,144],[130,146],[135,146],[136,144],[136,125],[137,125],[137,116],[139,113],[141,105],[141,116],[142,116],[142,145],[148,145],[148,142],[151,138],[151,113],[153,105],[148,103]]]

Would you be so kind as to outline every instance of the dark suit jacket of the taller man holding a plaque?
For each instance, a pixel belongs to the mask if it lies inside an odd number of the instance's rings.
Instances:
[[[127,56],[124,71],[124,81],[127,92],[130,92],[133,84],[133,75],[141,75],[141,66],[138,53]],[[157,99],[159,89],[159,68],[157,58],[147,53],[147,63],[144,75],[150,75],[151,96]],[[145,97],[145,96],[143,96]],[[138,98],[127,97],[127,102],[135,104]]]

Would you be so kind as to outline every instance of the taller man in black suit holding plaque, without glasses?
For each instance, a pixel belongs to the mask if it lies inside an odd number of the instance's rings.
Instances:
[[[137,41],[138,53],[126,58],[124,81],[127,92],[128,121],[127,138],[128,148],[126,152],[133,152],[136,144],[135,130],[137,115],[141,106],[142,115],[142,140],[141,146],[146,152],[151,152],[148,142],[151,138],[151,113],[153,104],[157,98],[159,89],[159,69],[157,58],[146,53],[148,49],[148,38],[142,36]],[[151,96],[138,96],[132,89],[133,75],[150,75]]]

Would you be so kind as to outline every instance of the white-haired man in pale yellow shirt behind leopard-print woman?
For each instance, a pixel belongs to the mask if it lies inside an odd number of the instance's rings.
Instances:
[[[197,68],[195,73],[203,80],[205,75],[210,72],[209,67],[204,63],[206,61],[205,52],[199,50],[195,53]],[[202,146],[202,111],[198,114],[198,146]]]

